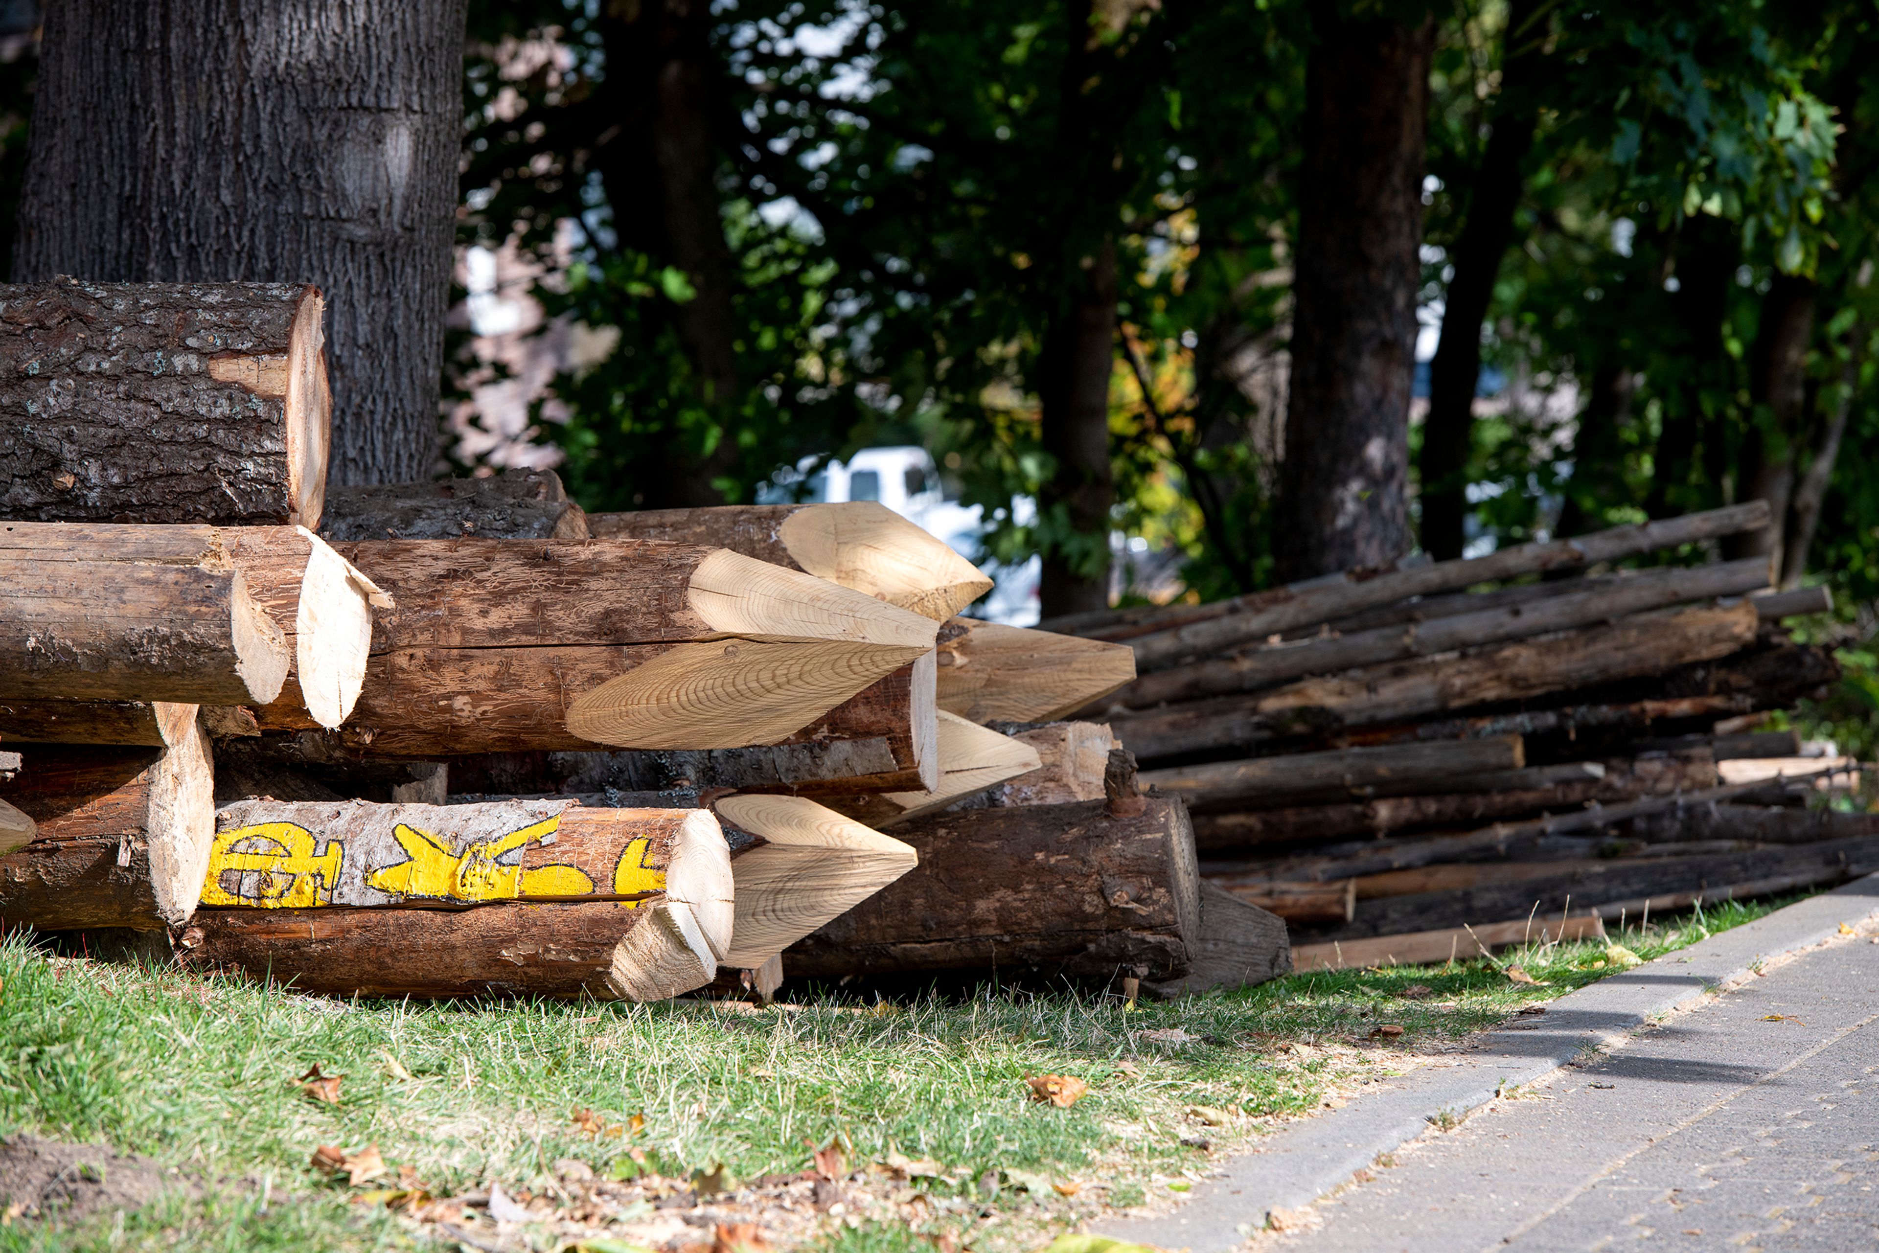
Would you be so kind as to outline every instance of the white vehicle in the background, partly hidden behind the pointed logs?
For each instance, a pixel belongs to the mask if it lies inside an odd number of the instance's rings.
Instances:
[[[977,560],[979,541],[986,530],[981,507],[947,500],[940,466],[926,449],[913,445],[862,449],[847,462],[832,460],[810,473],[814,464],[814,458],[804,458],[797,470],[778,472],[776,485],[759,488],[757,500],[765,503],[795,500],[797,487],[806,479],[808,487],[800,500],[877,500],[915,526],[943,539],[966,560]],[[1030,498],[1020,496],[1013,502],[1013,513],[1022,526],[1035,515],[1035,505]],[[1007,626],[1037,622],[1037,584],[1041,580],[1037,558],[1022,565],[979,562],[979,569],[998,586],[968,611],[971,616]]]

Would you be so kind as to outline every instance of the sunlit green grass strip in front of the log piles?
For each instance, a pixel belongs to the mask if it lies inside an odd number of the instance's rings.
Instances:
[[[1725,905],[1723,930],[1766,913]],[[1689,919],[1629,930],[1638,956],[1706,930]],[[701,1003],[342,1005],[225,979],[49,958],[0,945],[0,1135],[105,1142],[180,1167],[203,1185],[79,1230],[15,1221],[0,1249],[427,1247],[383,1210],[348,1204],[316,1174],[319,1144],[378,1144],[432,1193],[498,1180],[539,1189],[549,1165],[622,1163],[622,1140],[573,1112],[624,1123],[665,1174],[727,1167],[733,1178],[795,1172],[804,1142],[842,1137],[851,1161],[934,1159],[938,1195],[983,1197],[996,1221],[975,1247],[1024,1245],[1107,1195],[1131,1204],[1197,1178],[1218,1155],[1514,1009],[1592,982],[1605,947],[1554,945],[1499,962],[1297,975],[1231,996],[1141,1003],[1071,992],[992,992],[973,1001],[810,1003],[727,1013]],[[1511,982],[1520,964],[1546,986]],[[1428,992],[1421,992],[1421,988]],[[1411,998],[1404,994],[1411,992]],[[1405,1028],[1390,1048],[1379,1024]],[[1195,1037],[1165,1043],[1146,1031]],[[344,1075],[338,1105],[301,1093],[314,1063]],[[410,1075],[400,1078],[398,1071]],[[1090,1093],[1062,1110],[1028,1099],[1028,1075],[1073,1075]],[[1227,1114],[1203,1125],[1189,1106]],[[1080,1182],[1065,1200],[1048,1183]],[[261,1191],[271,1204],[263,1210]],[[1037,1193],[1043,1193],[1041,1197]],[[831,1234],[842,1253],[898,1249],[864,1225]],[[923,1244],[921,1247],[932,1247]]]

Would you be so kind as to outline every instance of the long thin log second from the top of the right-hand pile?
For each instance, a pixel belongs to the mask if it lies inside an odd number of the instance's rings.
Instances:
[[[1172,701],[1197,701],[1233,691],[1255,691],[1304,674],[1332,674],[1364,665],[1428,657],[1496,641],[1531,639],[1550,631],[1595,626],[1625,614],[1738,596],[1768,584],[1766,558],[1723,565],[1665,567],[1584,592],[1569,592],[1507,609],[1437,618],[1434,622],[1383,626],[1351,635],[1306,639],[1255,648],[1144,674],[1109,697],[1109,706],[1146,708]]]

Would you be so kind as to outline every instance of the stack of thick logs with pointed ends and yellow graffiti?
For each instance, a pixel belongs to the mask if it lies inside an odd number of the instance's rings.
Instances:
[[[1129,648],[958,618],[988,580],[874,503],[329,490],[319,325],[0,287],[0,926],[374,996],[1287,967],[1056,721]]]

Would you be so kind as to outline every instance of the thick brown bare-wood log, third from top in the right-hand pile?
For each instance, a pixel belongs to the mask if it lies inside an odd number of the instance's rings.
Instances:
[[[1460,657],[1419,657],[1268,691],[1214,697],[1110,718],[1116,736],[1148,761],[1261,744],[1300,729],[1402,723],[1443,710],[1522,701],[1663,674],[1710,661],[1755,639],[1755,607],[1700,605],[1614,624],[1494,644]],[[1680,693],[1665,693],[1680,695]]]

